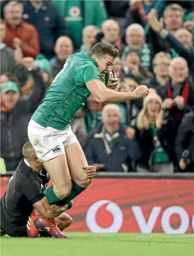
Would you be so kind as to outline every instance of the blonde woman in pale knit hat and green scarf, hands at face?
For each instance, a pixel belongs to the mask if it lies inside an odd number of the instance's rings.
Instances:
[[[176,156],[174,153],[175,124],[164,119],[162,100],[154,90],[145,97],[143,109],[136,122],[136,136],[142,156],[137,172],[173,173]]]

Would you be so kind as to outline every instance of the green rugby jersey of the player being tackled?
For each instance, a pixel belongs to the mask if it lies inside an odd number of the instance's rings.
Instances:
[[[90,95],[86,83],[93,79],[102,81],[97,66],[96,60],[86,53],[68,57],[32,119],[44,127],[65,130]]]

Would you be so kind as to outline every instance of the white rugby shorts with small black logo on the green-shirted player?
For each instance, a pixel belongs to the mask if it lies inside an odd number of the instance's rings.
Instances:
[[[65,146],[78,142],[71,126],[66,130],[57,130],[50,126],[45,128],[33,119],[28,124],[28,138],[40,162],[65,154]]]

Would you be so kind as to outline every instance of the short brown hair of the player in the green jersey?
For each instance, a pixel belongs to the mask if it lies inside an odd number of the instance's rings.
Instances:
[[[89,56],[91,57],[92,55],[96,55],[99,58],[103,57],[104,55],[110,55],[116,59],[119,55],[119,51],[110,43],[101,42],[97,43],[91,48]]]

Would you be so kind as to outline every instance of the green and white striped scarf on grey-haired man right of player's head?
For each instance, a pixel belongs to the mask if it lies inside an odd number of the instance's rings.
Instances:
[[[125,61],[126,59],[126,54],[130,50],[130,46],[127,45],[122,53],[122,60]],[[147,45],[147,43],[143,44],[143,47],[141,49],[141,54],[140,54],[140,60],[141,60],[141,66],[145,67],[145,69],[150,69],[150,60],[151,60],[151,52],[150,49]]]

